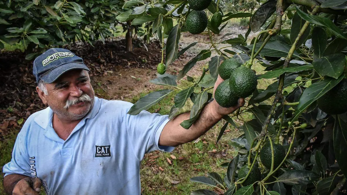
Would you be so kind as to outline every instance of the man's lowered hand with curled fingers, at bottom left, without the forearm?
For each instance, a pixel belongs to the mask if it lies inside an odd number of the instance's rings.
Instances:
[[[38,178],[24,178],[18,181],[13,189],[13,195],[39,195],[41,181]]]

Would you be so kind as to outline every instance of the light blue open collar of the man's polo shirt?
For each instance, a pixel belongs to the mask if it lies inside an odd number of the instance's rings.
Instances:
[[[82,120],[94,118],[100,110],[100,104],[101,103],[100,103],[99,97],[94,96],[93,108],[87,113],[85,117],[83,117]],[[50,107],[40,111],[40,114],[37,115],[34,119],[37,125],[39,125],[43,129],[46,129],[47,126],[52,123],[52,120],[53,120],[53,111]]]

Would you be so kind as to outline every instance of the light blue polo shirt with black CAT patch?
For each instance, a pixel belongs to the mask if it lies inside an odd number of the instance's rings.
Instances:
[[[140,194],[140,161],[159,146],[167,115],[142,111],[132,103],[95,97],[92,110],[64,141],[52,127],[53,111],[32,114],[19,132],[5,176],[40,178],[48,195]]]

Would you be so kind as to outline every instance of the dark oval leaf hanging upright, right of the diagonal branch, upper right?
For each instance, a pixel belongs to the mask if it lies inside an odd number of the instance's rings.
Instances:
[[[315,56],[318,56],[318,58],[323,57],[327,44],[327,33],[318,26],[314,27],[312,32],[312,47]]]

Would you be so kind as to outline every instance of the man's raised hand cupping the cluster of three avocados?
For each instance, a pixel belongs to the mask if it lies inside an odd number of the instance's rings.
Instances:
[[[214,92],[215,92],[216,88],[223,81],[224,80],[218,75],[217,81],[215,82],[214,87],[213,87],[213,96],[214,96]],[[215,100],[213,100],[211,102],[211,104],[213,105],[211,107],[211,109],[214,109],[215,115],[223,117],[224,115],[229,115],[232,112],[234,112],[235,110],[237,110],[238,108],[243,107],[243,105],[245,105],[245,99],[240,97],[238,99],[238,104],[233,106],[233,107],[230,107],[230,108],[221,107]]]

